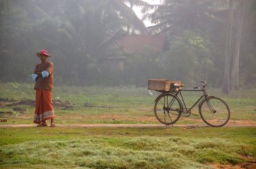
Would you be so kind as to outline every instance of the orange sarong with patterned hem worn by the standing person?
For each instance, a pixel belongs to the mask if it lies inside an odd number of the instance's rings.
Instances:
[[[43,89],[36,89],[36,109],[34,111],[34,123],[53,119],[52,92]]]

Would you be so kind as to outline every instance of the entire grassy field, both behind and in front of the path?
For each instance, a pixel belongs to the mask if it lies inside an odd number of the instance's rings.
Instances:
[[[0,98],[34,99],[32,84],[0,83]],[[135,87],[55,87],[53,98],[74,107],[55,107],[57,124],[158,123],[154,99]],[[230,122],[255,123],[256,89],[222,95]],[[186,93],[188,106],[199,96]],[[13,108],[28,111],[13,111]],[[0,107],[1,124],[32,123],[33,105]],[[197,108],[193,113],[198,114]],[[177,123],[203,123],[198,116]],[[0,127],[0,168],[226,168],[255,164],[255,127]]]

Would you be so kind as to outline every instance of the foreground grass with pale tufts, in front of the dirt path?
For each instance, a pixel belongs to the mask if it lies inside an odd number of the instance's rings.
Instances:
[[[255,127],[0,128],[2,168],[211,168],[255,159]]]

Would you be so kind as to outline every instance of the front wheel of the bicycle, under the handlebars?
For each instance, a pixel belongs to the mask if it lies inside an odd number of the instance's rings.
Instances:
[[[222,127],[228,123],[230,109],[225,101],[218,97],[210,96],[209,100],[204,99],[199,105],[201,119],[212,127]]]

